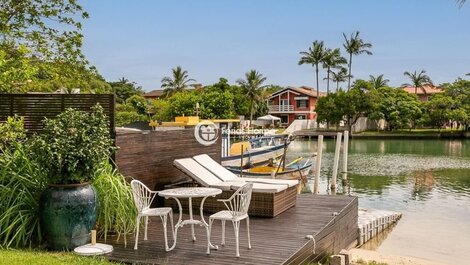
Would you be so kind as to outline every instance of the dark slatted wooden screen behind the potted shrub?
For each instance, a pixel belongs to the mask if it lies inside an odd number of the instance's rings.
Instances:
[[[109,117],[114,137],[114,94],[0,94],[0,122],[8,116],[24,117],[28,133],[40,132],[44,118],[54,118],[67,108],[89,111],[99,103]]]

